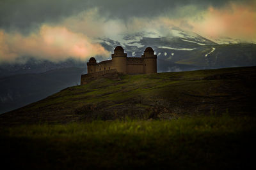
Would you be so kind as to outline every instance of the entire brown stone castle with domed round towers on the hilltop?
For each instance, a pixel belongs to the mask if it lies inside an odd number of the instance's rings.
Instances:
[[[87,62],[87,73],[81,76],[81,85],[86,83],[86,79],[102,76],[108,73],[124,74],[151,74],[157,73],[157,56],[154,50],[147,47],[141,57],[127,57],[122,46],[116,46],[111,55],[112,60],[104,60],[97,63],[94,57]]]

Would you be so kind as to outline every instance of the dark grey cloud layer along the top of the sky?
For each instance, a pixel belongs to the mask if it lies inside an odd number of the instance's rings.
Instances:
[[[248,4],[254,0],[232,0]],[[23,34],[42,24],[56,23],[82,11],[97,8],[100,16],[112,20],[127,21],[132,17],[179,18],[207,9],[222,8],[231,0],[1,0],[0,28],[6,31],[19,30]],[[191,8],[193,6],[193,10]],[[189,7],[189,10],[186,10]]]

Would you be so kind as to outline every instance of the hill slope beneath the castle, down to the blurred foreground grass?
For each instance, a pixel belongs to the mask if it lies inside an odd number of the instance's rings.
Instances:
[[[1,125],[253,115],[256,67],[97,78],[0,115]]]

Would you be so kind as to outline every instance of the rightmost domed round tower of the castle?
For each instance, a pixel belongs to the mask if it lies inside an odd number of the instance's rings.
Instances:
[[[154,50],[151,47],[147,47],[141,55],[144,60],[144,73],[157,73],[156,69],[156,55],[154,55]]]

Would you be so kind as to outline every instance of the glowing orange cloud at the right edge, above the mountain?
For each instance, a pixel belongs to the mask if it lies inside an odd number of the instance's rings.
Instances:
[[[251,6],[230,4],[226,8],[208,8],[204,20],[191,22],[195,32],[202,36],[218,38],[228,36],[256,41],[256,3]]]

